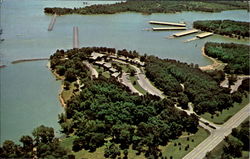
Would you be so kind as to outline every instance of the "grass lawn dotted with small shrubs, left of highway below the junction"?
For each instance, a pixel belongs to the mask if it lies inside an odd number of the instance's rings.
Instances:
[[[187,140],[189,136],[189,141]],[[192,151],[197,145],[199,145],[203,140],[205,140],[209,136],[209,132],[205,129],[199,127],[198,131],[195,134],[188,135],[184,133],[180,138],[171,141],[167,146],[160,147],[162,150],[163,156],[173,159],[181,159],[190,151]],[[193,142],[192,142],[193,140]],[[174,146],[174,144],[177,144]],[[181,143],[179,146],[178,143]],[[186,151],[185,147],[189,144],[189,149]]]

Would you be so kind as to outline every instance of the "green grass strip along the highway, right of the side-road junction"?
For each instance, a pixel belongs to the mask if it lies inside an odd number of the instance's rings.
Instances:
[[[208,121],[211,121],[215,124],[223,124],[228,119],[230,119],[234,114],[236,114],[239,110],[241,110],[244,106],[246,106],[249,103],[249,97],[250,94],[248,94],[247,98],[243,98],[242,103],[235,103],[233,107],[229,108],[228,110],[223,110],[222,113],[219,113],[219,116],[214,115],[213,118],[210,113],[205,113],[201,115],[201,117],[207,119]]]

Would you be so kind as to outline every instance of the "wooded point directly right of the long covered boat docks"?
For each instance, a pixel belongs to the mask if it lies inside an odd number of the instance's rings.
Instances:
[[[195,21],[193,27],[202,31],[214,32],[220,35],[238,37],[239,39],[250,37],[250,23],[233,20],[203,20]]]

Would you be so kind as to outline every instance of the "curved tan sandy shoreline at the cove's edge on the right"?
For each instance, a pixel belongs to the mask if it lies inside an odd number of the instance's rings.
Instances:
[[[210,59],[213,63],[210,64],[210,65],[206,65],[206,66],[200,66],[199,68],[202,70],[202,71],[209,71],[209,70],[215,70],[215,69],[218,69],[219,67],[223,66],[223,62],[213,58],[213,57],[210,57],[208,56],[206,53],[205,53],[205,48],[202,47],[201,48],[201,54],[202,56]]]

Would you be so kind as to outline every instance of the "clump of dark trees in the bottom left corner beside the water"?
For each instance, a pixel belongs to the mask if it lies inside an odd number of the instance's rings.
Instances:
[[[6,140],[0,146],[0,158],[75,158],[60,146],[53,128],[41,125],[33,130],[32,135],[22,136],[19,140],[21,145]]]

